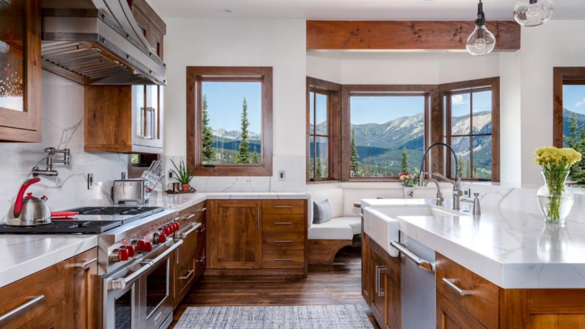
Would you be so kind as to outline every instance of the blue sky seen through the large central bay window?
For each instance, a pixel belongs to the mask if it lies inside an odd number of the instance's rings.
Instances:
[[[355,96],[350,98],[352,124],[362,125],[388,121],[422,113],[425,109],[423,96]]]

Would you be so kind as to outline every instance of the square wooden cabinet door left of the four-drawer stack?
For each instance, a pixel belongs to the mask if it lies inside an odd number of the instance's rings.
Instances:
[[[262,268],[262,201],[211,200],[209,267]]]

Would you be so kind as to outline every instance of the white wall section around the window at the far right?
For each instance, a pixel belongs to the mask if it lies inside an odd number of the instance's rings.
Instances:
[[[521,137],[522,183],[541,183],[534,150],[552,145],[553,67],[585,66],[585,20],[550,20],[522,28]]]

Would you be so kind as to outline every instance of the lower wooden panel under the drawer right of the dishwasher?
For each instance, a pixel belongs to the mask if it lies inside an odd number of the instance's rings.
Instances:
[[[436,293],[436,327],[438,329],[486,329],[479,321],[441,293],[440,290],[437,290]]]

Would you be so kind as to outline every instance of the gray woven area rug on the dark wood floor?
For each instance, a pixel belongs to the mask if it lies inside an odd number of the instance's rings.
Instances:
[[[187,307],[175,329],[373,329],[359,305]]]

